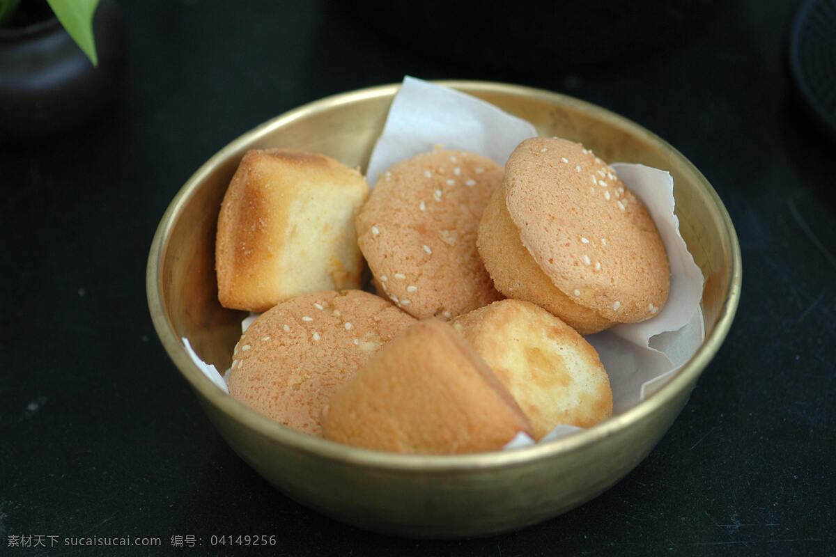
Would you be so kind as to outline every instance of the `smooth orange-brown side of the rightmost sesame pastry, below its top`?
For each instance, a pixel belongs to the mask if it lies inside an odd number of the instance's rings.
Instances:
[[[497,290],[509,298],[532,301],[561,316],[582,335],[612,326],[613,322],[575,303],[553,285],[520,241],[504,199],[502,188],[491,196],[479,223],[477,239],[479,254]]]

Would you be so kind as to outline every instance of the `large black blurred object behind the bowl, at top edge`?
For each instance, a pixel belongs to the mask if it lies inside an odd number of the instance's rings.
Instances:
[[[543,73],[611,62],[698,31],[719,0],[367,0],[359,21],[454,63]],[[346,8],[351,6],[346,3]]]

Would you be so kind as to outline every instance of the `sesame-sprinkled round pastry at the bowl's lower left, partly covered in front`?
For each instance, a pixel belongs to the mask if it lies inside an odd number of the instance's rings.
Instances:
[[[319,412],[370,357],[415,319],[369,292],[321,291],[265,311],[232,354],[232,397],[303,433],[320,435]]]

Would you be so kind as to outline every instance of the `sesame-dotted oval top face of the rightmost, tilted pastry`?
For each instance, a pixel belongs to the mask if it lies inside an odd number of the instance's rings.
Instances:
[[[520,241],[563,294],[613,322],[645,320],[665,304],[670,267],[653,220],[583,145],[527,139],[504,184]]]

